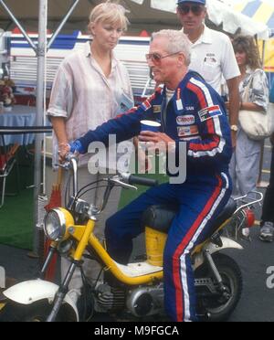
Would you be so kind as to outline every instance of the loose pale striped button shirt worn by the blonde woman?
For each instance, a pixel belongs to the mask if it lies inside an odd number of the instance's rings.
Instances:
[[[89,130],[96,129],[121,112],[121,98],[131,99],[132,87],[126,68],[112,54],[111,74],[108,78],[92,58],[90,43],[61,63],[51,91],[47,115],[66,118],[68,141],[73,141]],[[54,151],[57,140],[54,136]],[[80,157],[80,165],[89,156]]]

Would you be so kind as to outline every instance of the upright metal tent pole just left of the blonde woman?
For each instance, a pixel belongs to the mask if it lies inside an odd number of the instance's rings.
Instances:
[[[37,46],[37,116],[36,125],[44,125],[44,77],[45,77],[45,58],[47,50],[47,0],[39,0],[39,27],[38,27],[38,46]],[[42,170],[42,142],[44,136],[36,134],[35,139],[35,174],[34,174],[34,255],[39,255],[39,244],[41,237],[41,226],[38,221],[38,197],[41,186]]]

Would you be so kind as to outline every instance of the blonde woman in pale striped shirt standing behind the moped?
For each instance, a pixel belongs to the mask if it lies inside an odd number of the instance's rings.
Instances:
[[[127,25],[125,9],[121,5],[110,1],[97,5],[90,13],[89,30],[92,42],[88,42],[83,50],[65,58],[60,65],[47,110],[54,129],[54,150],[58,149],[59,153],[66,148],[69,141],[114,118],[121,112],[121,106],[131,106],[133,103],[127,70],[113,53]],[[79,188],[106,177],[104,174],[90,175],[89,159],[90,155],[79,158]],[[112,170],[113,166],[115,169],[115,165],[105,164],[106,168]],[[66,178],[63,183],[66,183]],[[93,190],[82,198],[99,206],[103,192],[103,188]],[[106,218],[117,211],[120,194],[119,188],[111,193],[109,204],[100,217],[97,228],[99,239],[103,238]],[[62,274],[68,268],[68,263],[64,262],[63,260]],[[93,262],[86,263],[84,267],[86,274],[96,281],[99,271],[94,269]],[[69,287],[73,289],[70,295],[75,300],[79,297],[81,286],[78,271]]]

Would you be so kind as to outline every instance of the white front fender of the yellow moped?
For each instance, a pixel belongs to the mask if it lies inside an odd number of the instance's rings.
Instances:
[[[37,301],[47,300],[52,303],[56,293],[58,292],[58,285],[44,280],[30,280],[20,282],[8,288],[3,292],[5,297],[15,303],[32,304]],[[76,304],[71,300],[67,294],[64,299],[65,303],[73,309],[76,321],[79,321],[79,313]]]

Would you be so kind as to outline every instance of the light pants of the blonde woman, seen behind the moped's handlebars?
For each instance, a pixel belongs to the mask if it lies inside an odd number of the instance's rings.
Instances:
[[[79,189],[82,188],[83,186],[86,186],[87,184],[91,182],[98,181],[100,179],[109,177],[112,175],[90,175],[87,167],[82,167],[79,168]],[[64,179],[62,181],[62,198],[64,200],[65,198],[65,191],[66,191],[66,185],[68,182],[68,174],[64,176]],[[106,182],[101,182],[98,186],[105,186]],[[91,187],[91,186],[90,186]],[[94,186],[92,186],[94,187]],[[101,201],[103,194],[105,192],[105,187],[98,188],[95,190],[90,191],[89,193],[85,194],[81,199],[86,200],[89,203],[95,204],[96,207],[100,207]],[[83,191],[86,191],[83,190]],[[72,191],[70,191],[72,194]],[[108,201],[108,205],[105,207],[104,211],[100,214],[99,220],[96,223],[95,229],[94,229],[94,234],[100,241],[103,241],[104,239],[104,229],[105,229],[105,222],[108,218],[111,217],[114,213],[117,212],[118,206],[119,206],[119,201],[121,197],[121,187],[114,187],[111,192],[111,196]],[[68,267],[70,265],[70,262],[67,259],[62,258],[61,259],[61,278],[64,280],[67,272],[68,272]],[[95,260],[84,260],[83,263],[83,270],[85,271],[85,275],[87,278],[95,282],[98,279],[98,276],[100,274],[100,265],[95,261]],[[83,283],[81,280],[81,274],[79,269],[76,269],[74,272],[74,275],[72,277],[71,282],[69,283],[69,291],[71,291],[72,295],[71,298],[77,300],[79,293],[80,293],[80,288],[82,287]],[[74,296],[73,296],[74,293]]]

